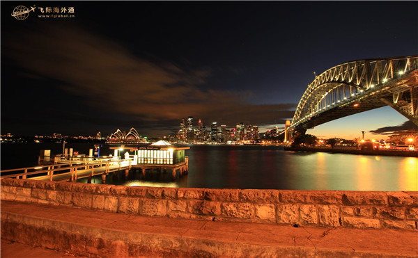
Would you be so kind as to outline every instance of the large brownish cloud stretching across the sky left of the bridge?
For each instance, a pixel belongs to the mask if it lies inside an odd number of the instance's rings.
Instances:
[[[211,76],[209,67],[191,70],[134,56],[112,40],[72,26],[13,33],[2,50],[28,71],[28,78],[57,81],[69,97],[79,97],[101,113],[126,115],[136,121],[132,124],[162,125],[189,115],[205,119],[205,124],[271,124],[293,117],[297,106],[253,105],[249,99],[254,92],[201,89]]]

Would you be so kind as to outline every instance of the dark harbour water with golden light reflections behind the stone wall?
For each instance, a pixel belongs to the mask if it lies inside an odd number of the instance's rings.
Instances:
[[[62,152],[59,143],[1,145],[1,170],[36,166],[40,150]],[[68,143],[80,154],[88,143]],[[103,145],[100,154],[112,154]],[[418,158],[323,152],[288,152],[281,146],[190,145],[189,173],[173,180],[171,173],[132,169],[108,175],[106,184],[196,188],[253,188],[346,191],[418,191]],[[79,179],[86,182],[86,179]],[[101,184],[101,177],[92,180]]]

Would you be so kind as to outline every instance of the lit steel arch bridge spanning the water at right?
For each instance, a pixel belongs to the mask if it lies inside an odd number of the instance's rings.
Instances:
[[[348,115],[391,106],[418,125],[418,56],[336,65],[316,76],[286,130],[307,129]]]

